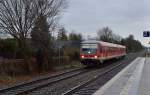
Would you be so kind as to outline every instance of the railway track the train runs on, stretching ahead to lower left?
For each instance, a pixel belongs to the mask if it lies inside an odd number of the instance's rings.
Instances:
[[[26,92],[33,91],[41,87],[45,87],[49,84],[53,84],[67,78],[71,78],[85,72],[87,72],[86,69],[80,68],[63,72],[54,76],[47,76],[27,83],[22,83],[12,87],[0,89],[0,95],[22,95]]]

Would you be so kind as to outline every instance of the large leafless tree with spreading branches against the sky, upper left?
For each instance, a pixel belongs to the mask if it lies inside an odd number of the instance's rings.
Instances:
[[[53,31],[56,18],[64,8],[65,0],[0,0],[0,29],[14,37],[24,52],[38,16],[47,17]]]

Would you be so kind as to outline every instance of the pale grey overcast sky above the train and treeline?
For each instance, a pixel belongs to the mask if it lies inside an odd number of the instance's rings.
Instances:
[[[123,37],[133,34],[145,43],[143,30],[150,30],[150,0],[68,0],[69,7],[61,18],[67,30],[84,37],[96,36],[98,29],[108,26]]]

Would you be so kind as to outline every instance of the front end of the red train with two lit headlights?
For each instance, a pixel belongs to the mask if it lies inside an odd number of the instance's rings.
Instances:
[[[80,49],[80,59],[83,65],[91,66],[99,62],[98,43],[82,43]]]

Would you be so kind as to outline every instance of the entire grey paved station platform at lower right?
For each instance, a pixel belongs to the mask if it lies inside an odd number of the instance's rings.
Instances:
[[[138,57],[93,95],[150,95],[150,58]]]

